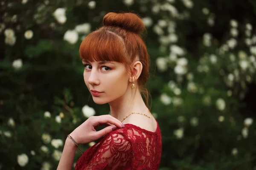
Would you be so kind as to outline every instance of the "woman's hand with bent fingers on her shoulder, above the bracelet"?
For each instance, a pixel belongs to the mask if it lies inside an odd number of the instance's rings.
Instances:
[[[96,131],[97,127],[101,125],[107,127]],[[73,130],[73,132],[70,133],[70,136],[72,136],[78,144],[87,144],[101,138],[118,127],[123,128],[125,125],[111,115],[91,116],[79,127]]]

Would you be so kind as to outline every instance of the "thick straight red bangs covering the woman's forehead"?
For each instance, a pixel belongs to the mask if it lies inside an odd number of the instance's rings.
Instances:
[[[82,59],[89,62],[127,62],[122,38],[105,30],[94,31],[87,35],[81,42],[79,54]]]

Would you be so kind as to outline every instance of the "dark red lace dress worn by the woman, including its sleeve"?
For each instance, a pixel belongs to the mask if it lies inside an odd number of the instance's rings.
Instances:
[[[87,149],[75,170],[157,170],[162,154],[162,135],[125,124]]]

